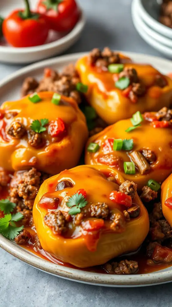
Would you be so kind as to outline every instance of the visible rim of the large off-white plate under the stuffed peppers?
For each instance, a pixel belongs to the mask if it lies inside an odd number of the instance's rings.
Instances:
[[[160,72],[167,74],[172,72],[172,62],[164,60],[159,57],[146,56],[143,54],[136,54],[132,52],[124,52],[134,61],[140,63],[150,63],[159,69]],[[43,68],[52,67],[53,69],[62,69],[64,65],[75,63],[77,59],[83,56],[83,53],[76,53],[73,55],[61,56],[50,60],[32,64],[26,68],[22,68],[12,75],[6,77],[0,82],[0,97],[1,103],[5,100],[17,100],[20,98],[20,89],[22,81],[27,76],[41,77]],[[46,261],[36,255],[24,250],[21,246],[12,241],[5,239],[0,235],[0,247],[21,259],[35,268],[56,275],[65,279],[70,279],[77,282],[84,282],[88,284],[114,287],[135,287],[156,285],[172,281],[172,267],[150,274],[136,274],[136,275],[109,275],[92,273],[83,270],[77,270],[60,266],[52,262]]]

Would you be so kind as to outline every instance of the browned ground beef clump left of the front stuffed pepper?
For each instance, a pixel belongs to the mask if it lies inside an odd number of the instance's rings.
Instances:
[[[29,223],[32,217],[32,212],[29,214],[29,211],[32,211],[40,184],[41,173],[35,168],[15,172],[10,182],[10,201],[17,204],[17,212],[24,215],[26,223]]]

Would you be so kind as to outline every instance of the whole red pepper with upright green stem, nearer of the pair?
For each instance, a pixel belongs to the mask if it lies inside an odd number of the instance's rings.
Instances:
[[[49,33],[47,20],[39,13],[31,12],[28,0],[24,2],[25,10],[15,10],[3,21],[3,35],[14,47],[43,45]]]

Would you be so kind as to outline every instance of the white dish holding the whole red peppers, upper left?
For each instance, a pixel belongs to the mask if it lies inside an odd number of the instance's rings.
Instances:
[[[37,2],[37,0],[30,1],[32,9],[36,7]],[[0,0],[0,12],[3,17],[8,16],[12,10],[18,8],[24,8],[23,0]],[[14,48],[2,42],[0,44],[0,61],[6,63],[26,64],[58,55],[67,50],[78,40],[84,25],[85,16],[82,12],[80,20],[71,32],[65,36],[60,36],[57,33],[51,32],[47,43],[44,45],[27,48]]]

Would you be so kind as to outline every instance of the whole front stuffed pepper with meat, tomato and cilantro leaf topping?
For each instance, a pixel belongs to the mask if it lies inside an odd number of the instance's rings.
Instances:
[[[106,166],[81,165],[50,177],[33,206],[43,249],[82,268],[135,251],[149,230],[136,188]]]

